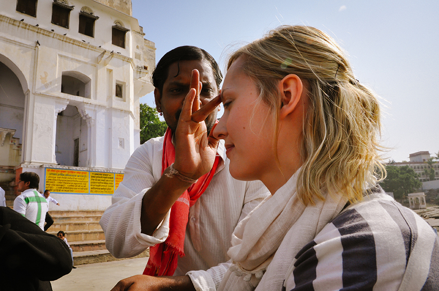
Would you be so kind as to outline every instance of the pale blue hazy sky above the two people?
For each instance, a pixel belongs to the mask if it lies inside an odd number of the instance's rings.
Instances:
[[[156,62],[194,45],[224,68],[233,45],[282,24],[315,26],[347,51],[360,82],[383,99],[382,144],[397,162],[439,151],[439,1],[133,0],[133,16],[156,44]],[[140,102],[154,106],[150,93]]]

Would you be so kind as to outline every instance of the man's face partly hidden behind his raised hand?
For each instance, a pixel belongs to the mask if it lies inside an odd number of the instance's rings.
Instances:
[[[205,105],[218,95],[218,87],[212,67],[204,60],[173,63],[169,66],[168,77],[163,84],[161,94],[157,88],[154,90],[156,106],[160,108],[159,112],[163,113],[166,124],[173,133],[177,128],[184,98],[190,89],[191,74],[194,69],[200,72],[200,82],[203,86],[200,92],[200,101],[201,106]],[[205,120],[208,132],[215,124],[217,112],[215,110]]]

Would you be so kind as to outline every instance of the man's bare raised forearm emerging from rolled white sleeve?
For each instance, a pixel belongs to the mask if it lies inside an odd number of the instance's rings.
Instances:
[[[169,168],[164,173],[169,172]],[[143,196],[140,213],[141,233],[152,235],[174,202],[186,191],[191,183],[179,178],[162,175]]]

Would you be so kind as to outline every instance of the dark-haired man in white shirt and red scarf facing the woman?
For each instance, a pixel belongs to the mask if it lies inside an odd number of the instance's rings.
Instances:
[[[222,141],[212,169],[197,181],[182,179],[184,169],[173,168],[187,154],[174,133],[194,69],[202,84],[200,106],[219,94],[222,75],[206,51],[183,46],[160,59],[152,82],[157,111],[168,129],[164,137],[147,141],[133,153],[100,225],[105,245],[116,257],[135,256],[151,247],[143,274],[177,276],[140,276],[141,280],[205,290],[219,284],[227,271],[227,250],[236,225],[269,193],[259,181],[232,178]],[[215,125],[219,109],[206,116],[207,132]]]

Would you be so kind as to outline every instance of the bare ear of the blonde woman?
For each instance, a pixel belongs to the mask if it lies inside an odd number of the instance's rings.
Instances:
[[[286,75],[279,82],[279,91],[282,100],[282,107],[280,108],[280,119],[288,116],[299,103],[302,94],[303,84],[298,75]]]

